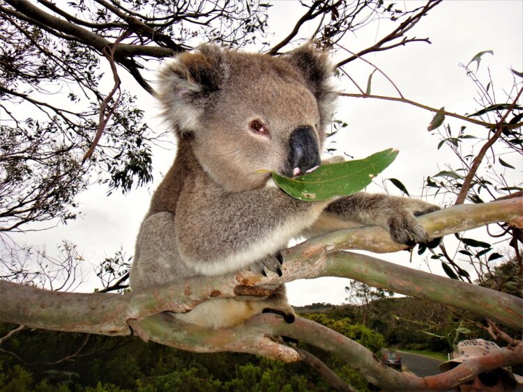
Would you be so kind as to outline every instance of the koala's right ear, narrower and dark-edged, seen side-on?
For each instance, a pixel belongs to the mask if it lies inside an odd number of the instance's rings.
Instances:
[[[331,118],[337,94],[334,84],[334,69],[326,52],[321,52],[308,43],[294,49],[284,58],[298,68],[307,81],[308,88],[316,97],[321,118]]]

